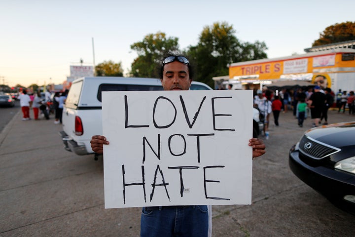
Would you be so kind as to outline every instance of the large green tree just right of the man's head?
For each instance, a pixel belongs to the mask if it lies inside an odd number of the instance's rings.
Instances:
[[[228,65],[234,62],[267,58],[264,42],[240,42],[236,31],[226,22],[204,27],[199,42],[190,46],[187,54],[196,62],[195,80],[213,86],[213,77],[228,75]]]

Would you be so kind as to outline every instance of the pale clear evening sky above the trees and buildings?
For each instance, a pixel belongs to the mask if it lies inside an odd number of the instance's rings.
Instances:
[[[121,62],[148,34],[197,45],[206,26],[226,22],[242,42],[264,41],[268,58],[304,54],[326,27],[355,21],[353,0],[1,0],[0,84],[61,84],[70,66]],[[224,75],[218,75],[224,76]]]

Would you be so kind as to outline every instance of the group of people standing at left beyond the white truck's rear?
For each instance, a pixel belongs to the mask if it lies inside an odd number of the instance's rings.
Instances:
[[[31,120],[30,108],[32,107],[35,120],[40,120],[39,111],[41,111],[44,118],[49,119],[49,114],[53,113],[55,114],[54,123],[62,123],[63,106],[67,93],[68,90],[55,92],[53,98],[51,98],[52,94],[48,90],[43,95],[40,91],[28,93],[26,90],[23,90],[17,98],[20,101],[23,114],[22,121]]]

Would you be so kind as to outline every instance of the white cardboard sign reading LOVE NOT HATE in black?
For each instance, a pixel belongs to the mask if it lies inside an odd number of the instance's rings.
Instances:
[[[102,93],[105,208],[251,203],[252,91]]]

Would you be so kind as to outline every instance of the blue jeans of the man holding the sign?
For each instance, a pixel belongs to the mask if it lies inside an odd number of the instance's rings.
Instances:
[[[142,209],[141,237],[207,237],[207,206]]]

